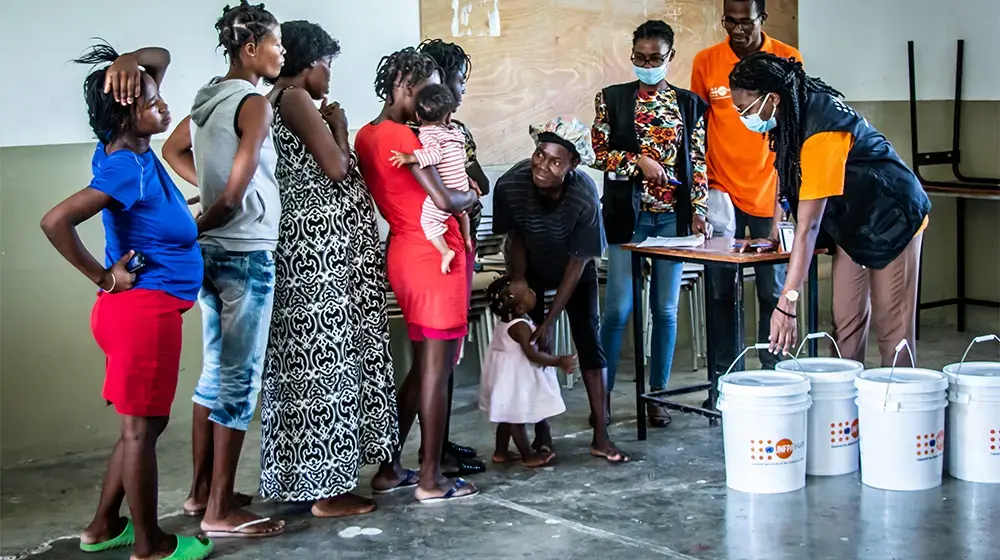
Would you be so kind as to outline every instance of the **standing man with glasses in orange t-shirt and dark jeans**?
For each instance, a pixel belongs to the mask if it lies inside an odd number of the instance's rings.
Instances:
[[[709,102],[705,114],[708,128],[708,184],[729,195],[736,214],[736,237],[774,239],[775,217],[781,210],[777,200],[778,173],[774,168],[774,153],[767,136],[751,132],[740,121],[733,108],[729,91],[729,73],[742,58],[765,51],[785,58],[802,60],[794,47],[768,37],[761,30],[767,21],[765,0],[725,0],[722,26],[729,37],[699,52],[691,70],[691,90]],[[754,267],[757,300],[760,304],[757,340],[767,340],[771,314],[781,297],[786,265]],[[715,289],[708,294],[714,307],[714,320],[709,336],[721,343],[715,345],[715,366],[724,371],[736,358],[735,318],[733,308],[735,272],[713,270]],[[761,353],[761,363],[773,369],[778,357]]]

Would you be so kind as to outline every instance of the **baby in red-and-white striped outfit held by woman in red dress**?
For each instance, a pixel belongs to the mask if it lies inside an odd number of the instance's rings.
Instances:
[[[471,180],[465,171],[465,135],[451,124],[451,114],[455,111],[455,97],[447,86],[430,85],[417,94],[417,118],[420,120],[420,143],[423,147],[412,154],[392,151],[390,161],[396,167],[419,165],[421,169],[435,166],[441,182],[449,189],[469,190]],[[445,243],[444,234],[448,230],[445,221],[451,214],[434,205],[431,197],[424,200],[420,214],[420,225],[427,240],[441,253],[441,274],[451,271],[451,261],[455,251]],[[472,232],[469,215],[457,214],[458,224],[465,239],[465,250],[472,251]]]

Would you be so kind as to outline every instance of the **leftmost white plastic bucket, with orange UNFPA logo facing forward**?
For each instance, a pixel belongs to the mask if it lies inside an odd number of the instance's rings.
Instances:
[[[809,379],[798,373],[741,371],[720,377],[726,486],[752,494],[803,488],[811,404]]]

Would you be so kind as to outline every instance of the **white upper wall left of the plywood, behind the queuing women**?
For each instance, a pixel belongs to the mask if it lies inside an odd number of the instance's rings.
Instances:
[[[260,0],[255,0],[260,1]],[[0,147],[93,141],[83,102],[88,69],[67,63],[93,41],[119,51],[156,45],[173,63],[163,97],[175,122],[190,110],[197,89],[226,71],[215,21],[238,0],[0,0]],[[372,83],[382,56],[420,40],[419,0],[271,0],[281,21],[322,25],[341,43],[331,100],[347,110],[352,128],[378,114]]]

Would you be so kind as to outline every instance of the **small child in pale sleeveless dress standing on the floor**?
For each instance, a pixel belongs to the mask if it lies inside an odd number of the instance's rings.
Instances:
[[[555,368],[574,371],[577,359],[540,352],[531,343],[535,325],[526,313],[535,307],[535,292],[526,282],[505,276],[490,284],[487,293],[500,322],[483,361],[479,408],[498,424],[493,462],[520,458],[525,467],[541,467],[555,454],[532,447],[527,424],[544,423],[566,411]],[[512,438],[520,457],[510,453]]]

